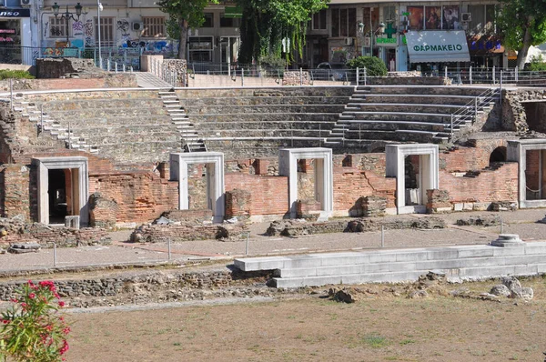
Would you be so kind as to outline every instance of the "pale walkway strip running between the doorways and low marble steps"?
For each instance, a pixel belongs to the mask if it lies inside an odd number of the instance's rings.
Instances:
[[[501,233],[500,226],[455,226],[459,218],[496,214],[503,220],[504,234],[518,234],[527,242],[546,240],[546,224],[538,223],[546,209],[525,209],[514,212],[465,212],[435,215],[446,220],[449,226],[435,230],[386,230],[385,248],[483,245],[496,239]],[[393,216],[394,217],[394,216]],[[415,217],[427,217],[415,215]],[[248,256],[271,256],[301,254],[308,252],[362,250],[381,248],[381,233],[337,233],[313,236],[264,236],[268,223],[253,224],[249,227]],[[58,248],[56,266],[111,266],[140,265],[167,262],[168,246],[165,243],[133,244],[126,240],[129,230],[112,233],[115,240],[111,246],[80,246]],[[222,260],[229,262],[233,257],[246,255],[246,237],[238,241],[197,240],[171,245],[171,261],[184,263],[192,260]],[[54,266],[52,249],[25,255],[0,255],[0,273],[9,274],[16,270],[47,269]]]

